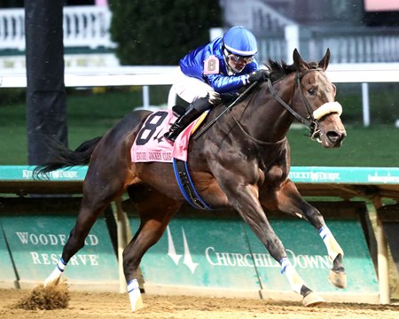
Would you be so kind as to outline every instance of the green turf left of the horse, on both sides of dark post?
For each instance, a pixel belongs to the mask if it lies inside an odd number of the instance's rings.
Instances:
[[[151,91],[154,93],[151,104],[159,105],[161,101],[167,101],[168,88],[153,87]],[[68,92],[66,105],[68,142],[74,148],[85,140],[104,135],[123,116],[143,105],[143,101],[141,89],[131,87],[106,89],[97,94],[92,94],[90,90],[74,90]],[[27,165],[24,102],[0,101],[0,136],[0,165]]]

